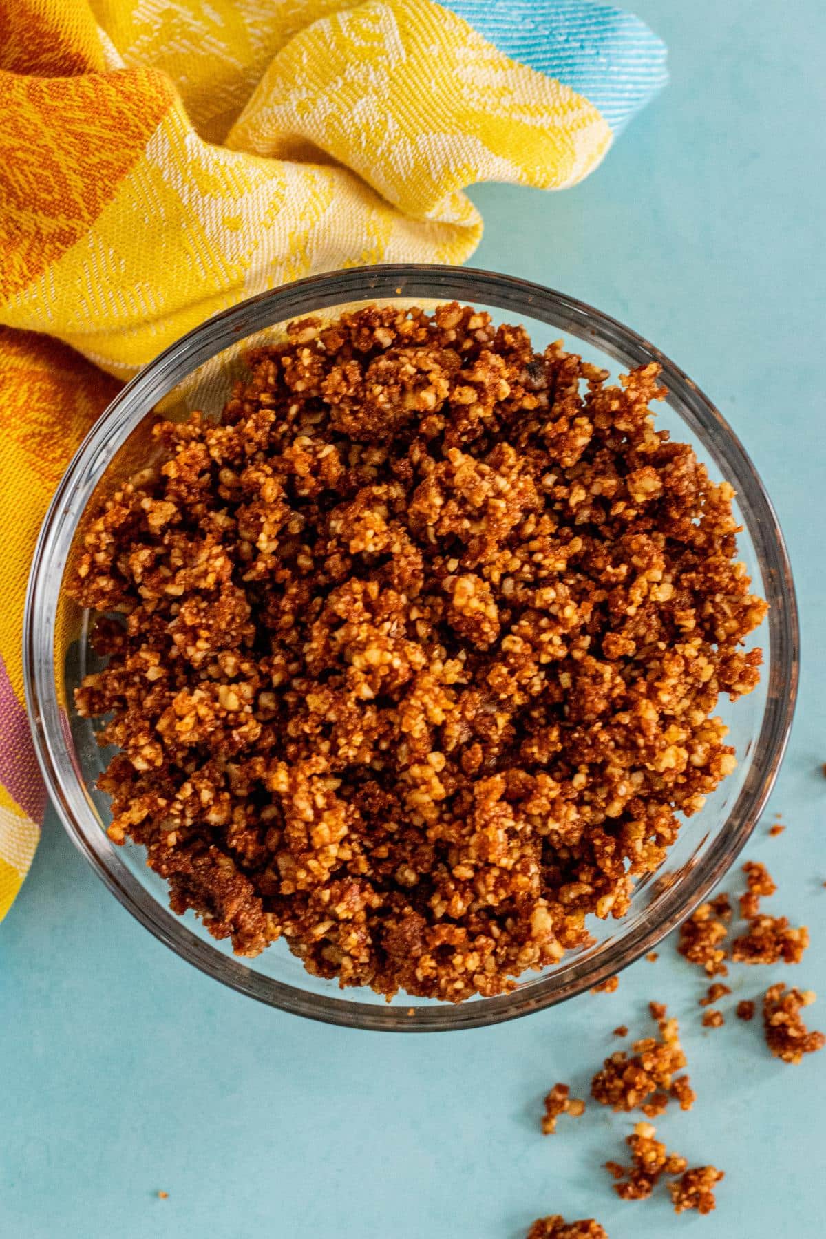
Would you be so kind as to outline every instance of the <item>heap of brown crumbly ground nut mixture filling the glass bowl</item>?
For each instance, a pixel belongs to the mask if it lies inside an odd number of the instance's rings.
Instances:
[[[459,1001],[622,917],[759,678],[732,489],[622,385],[443,305],[292,323],[85,525],[110,838],[241,955]]]

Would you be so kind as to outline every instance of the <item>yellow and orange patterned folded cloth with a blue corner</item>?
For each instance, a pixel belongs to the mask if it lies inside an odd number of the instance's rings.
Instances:
[[[0,11],[0,917],[45,804],[20,650],[37,528],[119,384],[313,271],[461,263],[477,181],[559,190],[666,79],[586,0],[6,0]]]

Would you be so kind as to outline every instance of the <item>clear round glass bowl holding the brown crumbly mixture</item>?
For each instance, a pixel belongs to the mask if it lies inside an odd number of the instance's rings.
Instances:
[[[521,322],[537,349],[562,336],[612,374],[617,362],[625,370],[658,361],[669,389],[658,425],[691,442],[712,477],[734,487],[739,556],[770,610],[754,637],[765,658],[759,688],[734,706],[719,704],[737,769],[685,823],[661,870],[638,883],[628,914],[609,923],[591,918],[591,945],[523,976],[510,994],[457,1006],[399,994],[388,1004],[308,975],[282,942],[256,959],[233,957],[192,913],[178,918],[168,909],[166,883],[146,867],[142,849],[109,841],[107,797],[95,789],[108,755],[95,743],[94,724],[72,705],[73,689],[94,667],[90,618],[66,597],[62,580],[87,504],[146,462],[154,410],[219,410],[243,348],[277,338],[291,318],[336,317],[359,304],[430,307],[454,299],[488,310],[497,322]],[[78,450],[46,515],[24,634],[28,711],[50,795],[73,843],[120,902],[178,955],[241,994],[329,1023],[404,1032],[472,1028],[539,1011],[618,973],[674,929],[731,866],[769,795],[794,711],[798,646],[791,571],[772,503],[736,435],[679,367],[628,327],[560,292],[490,271],[407,264],[337,271],[264,292],[189,332],[124,388]]]

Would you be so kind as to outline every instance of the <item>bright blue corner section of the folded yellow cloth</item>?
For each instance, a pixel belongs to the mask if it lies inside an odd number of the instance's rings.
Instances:
[[[667,82],[665,43],[591,0],[447,0],[499,51],[586,95],[619,134]]]

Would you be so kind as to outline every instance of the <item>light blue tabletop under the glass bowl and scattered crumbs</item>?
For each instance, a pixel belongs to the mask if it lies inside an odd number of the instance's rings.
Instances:
[[[488,187],[479,265],[565,289],[656,341],[710,392],[773,496],[804,617],[798,719],[747,856],[804,919],[798,969],[737,974],[821,992],[826,1028],[826,419],[820,0],[639,0],[671,85],[582,186]],[[722,12],[722,16],[719,15]],[[54,820],[0,927],[4,1239],[521,1239],[537,1215],[596,1215],[611,1239],[821,1239],[826,1052],[786,1067],[757,1023],[700,1027],[700,975],[674,945],[615,995],[431,1037],[280,1015],[178,961],[124,912]],[[681,1017],[700,1099],[661,1131],[726,1170],[717,1213],[623,1203],[599,1163],[629,1124],[594,1106],[539,1134],[542,1093],[575,1092],[638,1030]],[[724,1002],[728,1011],[732,1000]],[[170,1193],[167,1201],[154,1194]]]

